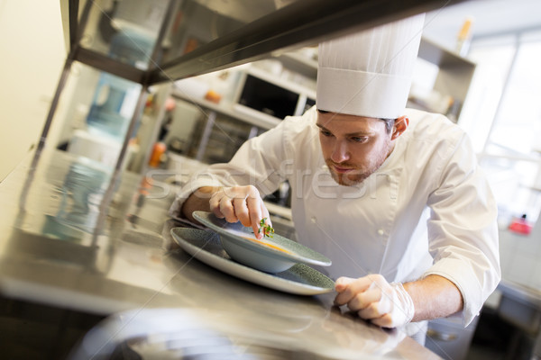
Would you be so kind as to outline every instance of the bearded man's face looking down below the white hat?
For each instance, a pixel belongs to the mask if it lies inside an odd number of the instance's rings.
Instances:
[[[336,112],[317,112],[316,125],[326,165],[341,185],[362,183],[389,157],[399,136],[396,126],[389,132],[381,119]]]

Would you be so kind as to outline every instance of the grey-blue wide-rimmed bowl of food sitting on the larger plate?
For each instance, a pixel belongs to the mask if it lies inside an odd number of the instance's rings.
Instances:
[[[193,216],[209,229],[215,230],[227,255],[245,266],[276,274],[298,263],[331,265],[327,257],[279,234],[258,239],[252,228],[244,227],[240,222],[229,223],[206,211],[194,211]]]

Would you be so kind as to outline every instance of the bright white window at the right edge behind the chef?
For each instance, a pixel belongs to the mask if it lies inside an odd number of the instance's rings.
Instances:
[[[499,203],[500,227],[506,229],[521,217],[533,225],[541,210],[540,35],[536,31],[515,38],[514,58],[512,41],[487,41],[472,48],[479,67],[490,70],[487,86],[502,92],[500,102],[491,105],[494,120],[481,166]]]

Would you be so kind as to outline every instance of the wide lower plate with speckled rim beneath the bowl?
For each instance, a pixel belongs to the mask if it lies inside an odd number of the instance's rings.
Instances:
[[[220,238],[212,231],[173,228],[171,235],[180,247],[199,261],[253,284],[298,295],[330,293],[335,289],[335,283],[330,278],[304,264],[297,264],[278,274],[243,266],[227,255]]]

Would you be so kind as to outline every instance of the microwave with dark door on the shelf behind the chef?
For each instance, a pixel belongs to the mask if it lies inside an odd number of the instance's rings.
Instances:
[[[316,91],[257,67],[244,68],[234,93],[234,110],[267,123],[302,115],[316,104]]]

